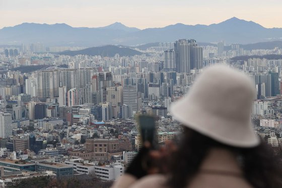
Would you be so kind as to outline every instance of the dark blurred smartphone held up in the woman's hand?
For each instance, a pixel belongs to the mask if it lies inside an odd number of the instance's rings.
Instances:
[[[150,115],[137,117],[142,143],[149,142],[152,148],[156,147],[156,124],[155,118]]]

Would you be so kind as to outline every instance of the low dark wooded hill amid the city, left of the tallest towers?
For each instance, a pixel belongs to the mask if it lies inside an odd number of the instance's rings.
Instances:
[[[59,52],[58,54],[62,55],[101,55],[101,56],[108,56],[112,57],[115,54],[119,54],[120,56],[133,56],[133,55],[141,55],[142,52],[139,52],[137,50],[128,48],[128,47],[120,47],[120,46],[115,46],[115,45],[106,45],[106,46],[99,46],[99,47],[91,47],[91,48],[86,48],[82,50],[77,50],[77,51],[62,51]]]

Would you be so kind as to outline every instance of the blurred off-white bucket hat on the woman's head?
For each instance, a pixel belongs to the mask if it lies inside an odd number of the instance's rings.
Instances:
[[[255,88],[250,78],[224,65],[205,69],[191,91],[172,103],[183,126],[235,147],[259,144],[251,123]]]

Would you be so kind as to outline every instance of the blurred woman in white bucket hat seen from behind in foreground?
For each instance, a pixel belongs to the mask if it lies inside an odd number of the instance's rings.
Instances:
[[[243,73],[205,69],[170,110],[183,126],[179,144],[142,148],[113,187],[282,187],[278,162],[251,124],[255,94]]]

